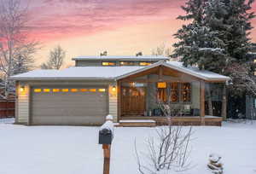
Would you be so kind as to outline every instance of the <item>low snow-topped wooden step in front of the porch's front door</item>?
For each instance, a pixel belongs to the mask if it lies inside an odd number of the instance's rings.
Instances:
[[[155,127],[156,122],[153,119],[122,119],[122,120],[119,120],[119,126],[122,126],[122,127]]]

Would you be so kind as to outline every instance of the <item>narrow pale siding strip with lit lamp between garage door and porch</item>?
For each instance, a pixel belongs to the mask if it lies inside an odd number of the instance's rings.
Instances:
[[[113,91],[113,87],[116,88]],[[113,115],[113,122],[117,122],[118,119],[118,97],[117,97],[117,85],[111,84],[108,87],[109,90],[109,114]]]

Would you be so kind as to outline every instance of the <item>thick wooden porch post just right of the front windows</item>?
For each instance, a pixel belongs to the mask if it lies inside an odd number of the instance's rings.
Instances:
[[[201,125],[205,125],[205,100],[206,100],[206,83],[205,81],[200,82],[200,117],[201,117]]]

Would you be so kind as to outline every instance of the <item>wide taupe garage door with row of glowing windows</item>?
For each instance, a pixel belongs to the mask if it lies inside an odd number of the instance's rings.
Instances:
[[[32,88],[33,125],[98,125],[108,114],[106,87]]]

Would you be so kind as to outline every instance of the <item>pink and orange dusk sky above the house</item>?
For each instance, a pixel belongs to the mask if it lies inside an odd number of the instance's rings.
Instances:
[[[172,47],[172,34],[183,24],[184,0],[26,0],[29,2],[31,36],[42,43],[37,62],[45,61],[49,49],[61,45],[73,56],[135,55],[165,43]],[[24,1],[24,2],[26,2]],[[256,4],[253,4],[256,10]],[[256,26],[256,20],[253,20]],[[251,38],[256,42],[256,29]]]

